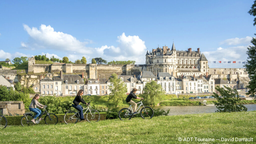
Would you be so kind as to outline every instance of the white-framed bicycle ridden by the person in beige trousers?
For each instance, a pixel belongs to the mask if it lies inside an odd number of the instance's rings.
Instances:
[[[143,106],[140,112],[141,117],[143,119],[151,119],[154,116],[153,109],[151,107],[144,107],[142,100],[140,100],[140,102],[138,102],[137,104],[140,104],[140,105],[138,106],[136,111],[138,111],[140,107]],[[130,105],[129,108],[122,108],[118,112],[118,116],[121,120],[130,120],[132,117],[135,117],[135,115],[133,115],[133,113],[131,112],[130,108],[132,110],[132,105]]]

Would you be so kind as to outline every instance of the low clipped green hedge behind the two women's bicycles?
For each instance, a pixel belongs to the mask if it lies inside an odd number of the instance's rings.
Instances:
[[[106,120],[106,114],[107,114],[106,112],[100,112],[100,120]],[[65,114],[56,114],[56,115],[58,117],[58,124],[59,123],[65,123],[64,122],[64,115]],[[11,126],[11,125],[19,126],[19,125],[21,125],[20,120],[23,117],[23,115],[22,116],[5,116],[5,117],[7,119],[7,126]],[[44,118],[44,117],[45,117],[45,115],[42,116],[42,118]],[[80,121],[78,121],[78,122],[80,122]],[[45,121],[42,120],[39,124],[45,125]]]

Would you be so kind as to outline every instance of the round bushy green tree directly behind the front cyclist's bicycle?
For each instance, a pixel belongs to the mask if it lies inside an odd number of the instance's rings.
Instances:
[[[157,84],[156,81],[146,83],[142,94],[142,97],[145,99],[143,103],[145,105],[155,105],[162,100],[164,93],[161,85]]]

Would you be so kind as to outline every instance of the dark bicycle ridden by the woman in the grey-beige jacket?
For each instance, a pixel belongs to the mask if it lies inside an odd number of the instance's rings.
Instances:
[[[39,119],[46,113],[46,116],[44,118],[45,124],[54,124],[56,125],[58,123],[58,117],[55,114],[49,114],[46,110],[47,106],[44,106],[44,112],[42,112],[36,119],[35,122],[36,124],[39,124]],[[24,116],[21,118],[20,123],[22,126],[31,126],[34,125],[34,123],[31,121],[36,114],[34,112],[31,112],[30,114],[23,114]]]

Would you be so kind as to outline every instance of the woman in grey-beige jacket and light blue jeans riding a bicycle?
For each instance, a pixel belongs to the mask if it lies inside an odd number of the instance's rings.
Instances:
[[[39,95],[38,94],[36,94],[34,97],[33,97],[33,99],[31,100],[31,104],[29,105],[29,110],[30,111],[33,111],[33,112],[35,112],[36,113],[36,116],[31,120],[34,124],[36,123],[35,122],[35,119],[41,114],[41,110],[40,109],[38,109],[38,108],[36,108],[36,106],[38,106],[39,108],[44,108],[44,105],[42,105],[42,104],[40,104],[39,102],[38,102],[38,99],[39,99]],[[44,119],[44,118],[40,118],[39,119],[39,121],[40,120],[42,120],[42,119]]]

